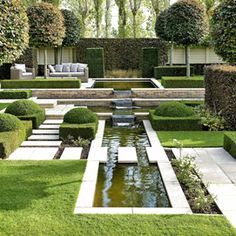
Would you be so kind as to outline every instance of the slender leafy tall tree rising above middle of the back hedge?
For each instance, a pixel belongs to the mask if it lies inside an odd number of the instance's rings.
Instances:
[[[115,0],[119,11],[119,26],[118,35],[120,38],[126,37],[126,24],[127,24],[127,13],[126,13],[126,0]]]

